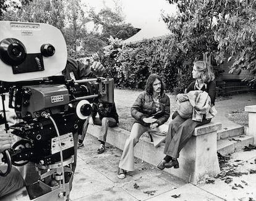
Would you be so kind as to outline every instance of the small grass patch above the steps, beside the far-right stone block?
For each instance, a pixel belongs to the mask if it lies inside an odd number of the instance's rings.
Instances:
[[[244,112],[243,109],[233,110],[228,114],[228,119],[242,126],[248,127],[249,117],[248,112]]]

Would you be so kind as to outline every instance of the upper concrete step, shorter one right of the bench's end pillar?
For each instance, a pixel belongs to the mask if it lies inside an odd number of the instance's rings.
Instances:
[[[244,134],[244,127],[241,125],[234,125],[231,127],[224,127],[217,132],[217,139],[226,139],[229,137],[240,136]]]

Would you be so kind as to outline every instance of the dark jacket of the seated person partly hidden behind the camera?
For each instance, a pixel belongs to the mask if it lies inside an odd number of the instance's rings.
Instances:
[[[116,120],[116,123],[119,123],[116,105],[114,103],[93,104],[91,113],[93,120],[95,119],[97,112],[100,120],[102,120],[103,117],[112,117]]]

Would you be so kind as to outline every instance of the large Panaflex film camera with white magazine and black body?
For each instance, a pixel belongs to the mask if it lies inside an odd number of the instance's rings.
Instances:
[[[90,114],[90,104],[114,102],[112,78],[54,76],[66,62],[66,43],[58,28],[0,21],[2,109],[14,109],[19,120],[11,126],[6,121],[6,131],[22,138],[3,153],[8,167],[0,174],[6,176],[11,165],[35,163],[38,180],[26,186],[30,200],[66,199],[73,177],[73,134]]]

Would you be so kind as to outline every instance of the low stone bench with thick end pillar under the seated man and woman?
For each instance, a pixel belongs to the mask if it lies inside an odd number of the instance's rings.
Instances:
[[[179,168],[165,168],[164,171],[193,184],[220,173],[217,156],[217,131],[219,129],[221,129],[221,123],[214,122],[195,128],[193,136],[181,150]],[[87,133],[92,136],[98,137],[99,132],[100,126],[88,126]],[[129,131],[119,127],[109,128],[106,141],[122,150],[129,134]],[[164,157],[163,150],[164,143],[155,148],[149,137],[142,136],[134,147],[134,156],[156,166]]]

